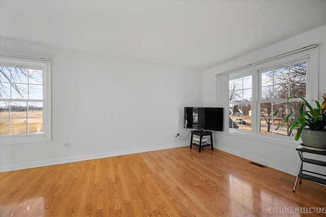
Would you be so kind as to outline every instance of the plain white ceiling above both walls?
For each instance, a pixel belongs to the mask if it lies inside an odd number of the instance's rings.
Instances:
[[[326,1],[1,1],[0,10],[1,37],[199,71],[326,24]]]

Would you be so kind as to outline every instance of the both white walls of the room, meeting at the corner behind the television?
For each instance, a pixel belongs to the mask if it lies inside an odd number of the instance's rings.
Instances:
[[[52,141],[0,146],[0,170],[188,145],[174,137],[189,132],[182,128],[183,107],[217,106],[216,74],[315,43],[319,95],[326,93],[325,38],[322,26],[202,74],[1,38],[1,52],[52,60]],[[63,148],[63,142],[71,146]],[[293,175],[297,145],[214,133],[215,148]]]

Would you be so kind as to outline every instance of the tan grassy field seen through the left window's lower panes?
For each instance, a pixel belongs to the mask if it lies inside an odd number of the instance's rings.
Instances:
[[[11,134],[26,134],[43,131],[43,113],[42,111],[29,112],[27,118],[26,112],[0,112],[0,134],[9,134],[9,121],[11,126]]]

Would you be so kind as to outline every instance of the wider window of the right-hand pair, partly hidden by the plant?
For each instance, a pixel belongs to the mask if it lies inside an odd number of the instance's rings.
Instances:
[[[309,59],[303,59],[258,71],[260,133],[295,136],[296,130],[288,129],[293,120],[282,120],[303,102],[298,96],[307,96],[307,66]]]

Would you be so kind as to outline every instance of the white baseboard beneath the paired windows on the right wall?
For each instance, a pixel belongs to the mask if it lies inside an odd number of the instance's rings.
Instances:
[[[220,150],[225,151],[225,152],[228,152],[230,154],[234,154],[236,156],[248,159],[248,160],[252,160],[254,162],[257,162],[258,164],[265,165],[267,167],[282,171],[284,173],[288,173],[288,174],[291,174],[291,175],[294,175],[294,176],[296,176],[296,173],[297,173],[297,170],[295,170],[295,169],[292,169],[292,168],[289,168],[289,167],[284,167],[282,165],[275,164],[274,162],[270,162],[270,161],[267,161],[267,160],[264,160],[264,159],[261,159],[261,158],[257,158],[255,156],[243,154],[241,152],[237,152],[237,151],[234,151],[232,149],[228,149],[228,148],[223,147],[223,146],[217,146],[217,147],[215,146],[215,148],[220,149]]]

